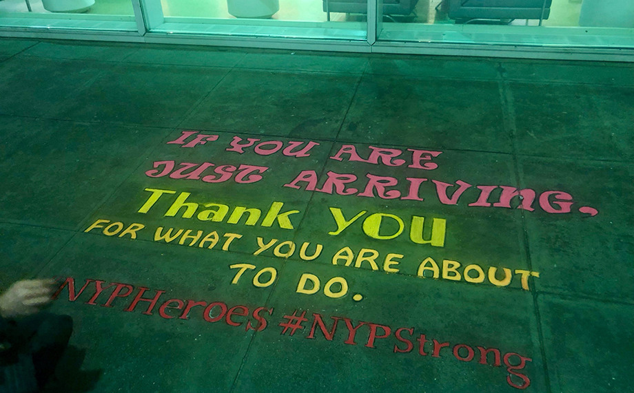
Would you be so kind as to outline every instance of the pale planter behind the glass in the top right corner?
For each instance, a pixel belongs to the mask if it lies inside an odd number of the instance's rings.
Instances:
[[[634,28],[634,0],[584,0],[579,25],[597,28]]]

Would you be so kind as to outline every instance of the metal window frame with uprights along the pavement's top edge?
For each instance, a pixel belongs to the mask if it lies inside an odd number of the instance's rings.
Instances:
[[[50,28],[0,28],[0,37],[115,41],[132,43],[168,43],[176,45],[209,45],[225,47],[257,47],[282,50],[327,52],[362,52],[382,54],[428,54],[447,56],[484,56],[517,59],[556,59],[634,62],[634,48],[547,47],[530,45],[495,45],[464,43],[430,43],[380,41],[382,32],[382,0],[367,1],[367,40],[291,39],[276,37],[214,36],[213,34],[162,34],[151,26],[161,19],[159,10],[147,10],[147,2],[131,0],[136,32],[72,30]],[[155,7],[156,8],[156,7]],[[162,17],[162,11],[161,15]]]

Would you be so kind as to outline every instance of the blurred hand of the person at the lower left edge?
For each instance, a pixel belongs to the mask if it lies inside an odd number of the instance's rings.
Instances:
[[[48,306],[54,290],[49,279],[29,279],[13,284],[0,295],[0,315],[3,318],[19,318],[37,314]]]

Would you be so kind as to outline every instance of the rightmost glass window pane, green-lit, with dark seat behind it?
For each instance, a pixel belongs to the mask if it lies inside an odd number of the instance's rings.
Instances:
[[[384,40],[634,46],[634,0],[383,0],[381,9]]]

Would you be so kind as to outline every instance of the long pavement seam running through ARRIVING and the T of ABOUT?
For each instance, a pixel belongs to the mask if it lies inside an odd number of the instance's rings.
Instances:
[[[501,70],[501,69],[500,69]],[[515,106],[513,103],[513,93],[511,92],[511,87],[504,78],[504,74],[500,72],[501,80],[499,83],[500,88],[500,101],[502,104],[502,110],[504,111],[504,129],[510,134],[511,137],[511,148],[513,149],[513,171],[515,172],[515,182],[518,187],[522,187],[522,180],[520,176],[520,167],[519,160],[517,156],[517,126],[515,123]],[[520,225],[522,227],[522,237],[524,243],[524,257],[526,258],[526,264],[529,267],[529,270],[533,270],[533,263],[531,260],[531,249],[529,246],[529,235],[526,227],[526,217],[525,212],[522,210],[521,212],[521,220]],[[549,367],[548,367],[548,358],[546,355],[546,340],[544,339],[544,332],[542,329],[542,315],[540,313],[538,296],[535,290],[531,290],[531,297],[533,299],[533,315],[535,317],[535,328],[537,329],[538,334],[538,344],[540,347],[540,355],[542,357],[542,367],[544,370],[544,385],[546,386],[546,393],[552,392],[551,387],[551,379],[549,375]]]

